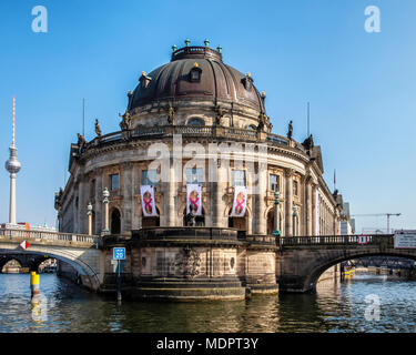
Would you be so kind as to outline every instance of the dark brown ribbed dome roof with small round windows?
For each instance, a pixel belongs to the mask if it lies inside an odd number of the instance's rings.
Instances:
[[[143,72],[129,110],[163,100],[212,100],[214,104],[237,103],[265,112],[250,73],[244,75],[224,64],[221,52],[209,47],[181,48],[172,53],[170,63],[149,74]]]

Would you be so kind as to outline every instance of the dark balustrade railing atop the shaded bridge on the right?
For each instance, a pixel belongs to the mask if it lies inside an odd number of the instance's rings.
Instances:
[[[281,236],[277,245],[285,246],[319,246],[319,245],[393,245],[393,234],[356,234],[356,235],[319,235],[319,236]]]

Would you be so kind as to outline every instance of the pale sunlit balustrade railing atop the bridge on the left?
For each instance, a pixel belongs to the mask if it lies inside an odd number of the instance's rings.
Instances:
[[[32,231],[23,229],[0,229],[0,239],[18,239],[18,240],[34,240],[34,241],[61,241],[71,243],[97,244],[98,237],[87,234],[60,233],[49,231]]]

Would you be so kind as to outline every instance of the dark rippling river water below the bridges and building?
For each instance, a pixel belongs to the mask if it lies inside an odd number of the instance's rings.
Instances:
[[[314,295],[118,305],[42,274],[34,307],[29,277],[0,274],[0,332],[416,332],[416,282],[379,275],[325,283]],[[379,321],[366,320],[368,295],[373,306],[378,297]]]

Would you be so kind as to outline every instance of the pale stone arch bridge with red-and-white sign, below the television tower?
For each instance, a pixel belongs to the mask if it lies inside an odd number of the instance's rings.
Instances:
[[[20,246],[23,241],[30,244],[27,250]],[[98,243],[90,235],[0,229],[0,270],[13,258],[31,271],[47,258],[57,258],[77,271],[83,286],[98,291],[104,274]]]

